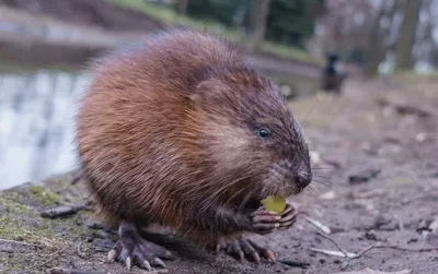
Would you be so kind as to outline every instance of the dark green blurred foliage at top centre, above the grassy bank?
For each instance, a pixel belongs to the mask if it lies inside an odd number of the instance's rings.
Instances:
[[[263,32],[255,32],[261,24],[254,24],[265,21],[261,17],[264,12],[261,8],[266,2],[262,0],[191,0],[187,14],[243,27],[250,35],[262,35],[268,40],[303,46],[304,39],[313,34],[314,20],[324,11],[324,3],[325,0],[269,0]]]

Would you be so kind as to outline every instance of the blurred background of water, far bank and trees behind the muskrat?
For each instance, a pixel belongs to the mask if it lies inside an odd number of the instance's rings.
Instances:
[[[0,0],[0,189],[76,168],[87,64],[182,25],[234,43],[291,100],[321,90],[326,55],[350,79],[435,73],[436,0]]]

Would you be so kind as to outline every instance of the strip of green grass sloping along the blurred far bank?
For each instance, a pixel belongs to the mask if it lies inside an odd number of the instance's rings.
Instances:
[[[244,43],[244,40],[247,40],[245,34],[239,28],[229,28],[214,21],[198,21],[191,19],[188,16],[182,16],[177,14],[174,10],[164,5],[148,3],[142,0],[107,0],[107,1],[114,3],[115,5],[122,9],[141,12],[147,16],[158,22],[161,22],[165,26],[182,25],[191,28],[205,29],[207,32],[220,34],[228,40],[234,43]],[[308,53],[302,49],[288,47],[285,45],[275,44],[270,41],[265,41],[262,45],[262,52],[319,67],[323,64],[322,60],[312,57],[310,53]]]

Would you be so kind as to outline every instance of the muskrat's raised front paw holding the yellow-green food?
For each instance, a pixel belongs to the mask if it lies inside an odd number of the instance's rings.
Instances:
[[[290,203],[286,203],[286,209],[280,214],[260,207],[251,214],[250,230],[261,235],[284,230],[295,224],[297,215],[297,210]]]

